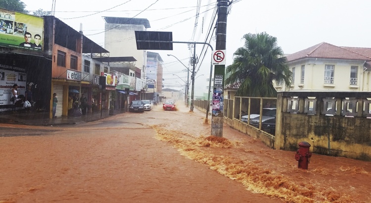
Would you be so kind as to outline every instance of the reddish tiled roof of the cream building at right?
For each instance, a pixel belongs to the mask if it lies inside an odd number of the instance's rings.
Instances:
[[[351,60],[371,60],[371,49],[338,47],[328,43],[320,43],[308,49],[290,54],[287,61],[294,61],[300,58],[331,58]]]

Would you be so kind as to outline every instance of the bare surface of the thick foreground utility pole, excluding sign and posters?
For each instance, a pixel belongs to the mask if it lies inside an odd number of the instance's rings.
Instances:
[[[226,49],[226,39],[227,39],[227,13],[228,13],[228,2],[229,0],[217,0],[218,2],[218,20],[217,20],[217,30],[216,30],[216,48],[215,50],[225,50]],[[214,94],[218,91],[215,87],[216,76],[222,79],[222,97],[224,97],[224,80],[225,80],[225,69],[226,65],[215,65],[214,68]],[[224,101],[222,98],[219,101]],[[214,98],[213,98],[214,102]],[[224,104],[222,104],[224,105]],[[222,108],[224,109],[224,108]],[[214,107],[213,107],[214,111]],[[217,115],[212,113],[211,117],[211,135],[217,137],[223,137],[223,110]]]

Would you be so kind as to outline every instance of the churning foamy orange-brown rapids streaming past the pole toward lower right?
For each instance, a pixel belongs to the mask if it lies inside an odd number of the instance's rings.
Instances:
[[[254,193],[276,197],[289,203],[347,203],[353,201],[347,194],[337,192],[332,188],[323,190],[322,186],[310,182],[297,184],[297,182],[291,181],[289,176],[282,175],[269,167],[264,167],[263,164],[258,164],[261,162],[259,160],[249,160],[244,157],[234,157],[233,154],[229,155],[229,149],[237,149],[238,146],[243,145],[240,141],[230,141],[226,138],[214,136],[205,137],[201,135],[196,137],[180,131],[167,130],[161,126],[152,127],[157,131],[158,140],[171,143],[181,155],[207,165],[210,169],[240,182],[247,190]],[[244,152],[255,153],[248,149],[245,149]],[[261,153],[274,156],[270,152],[262,151]],[[300,169],[295,169],[294,165],[291,167],[290,170],[302,172]],[[357,167],[340,170],[350,170],[354,173],[366,172]],[[331,175],[325,168],[317,168],[311,174],[314,173]]]

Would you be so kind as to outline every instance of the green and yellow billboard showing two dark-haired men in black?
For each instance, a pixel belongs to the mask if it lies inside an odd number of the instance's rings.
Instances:
[[[0,46],[42,51],[44,18],[0,9]]]

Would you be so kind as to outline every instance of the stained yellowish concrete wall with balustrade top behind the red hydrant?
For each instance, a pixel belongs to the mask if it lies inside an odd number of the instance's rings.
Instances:
[[[296,108],[288,102],[295,96],[299,103]],[[307,103],[300,99],[304,96],[316,97],[315,112],[306,112]],[[336,100],[336,112],[332,112],[336,115],[324,110],[325,98]],[[343,109],[344,98],[356,98],[353,112]],[[367,118],[370,101],[367,98],[371,98],[370,93],[279,93],[275,148],[295,151],[299,142],[306,141],[315,153],[371,160],[371,119]]]

